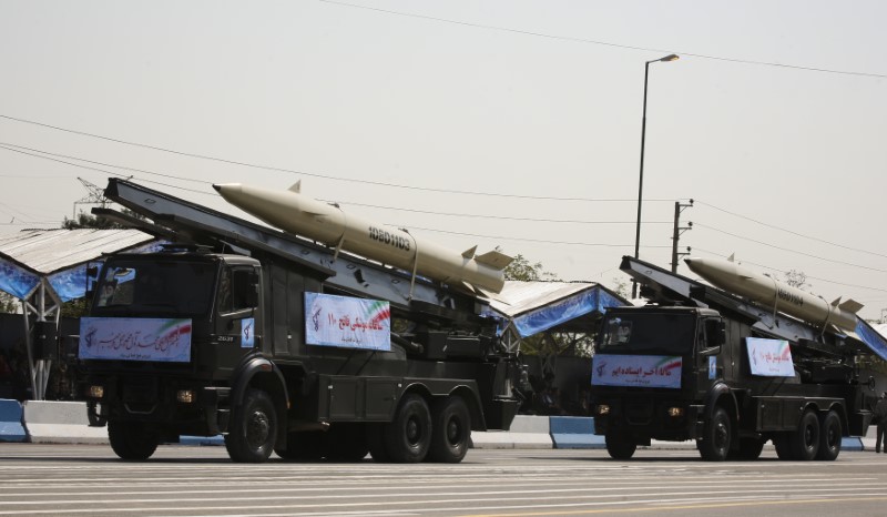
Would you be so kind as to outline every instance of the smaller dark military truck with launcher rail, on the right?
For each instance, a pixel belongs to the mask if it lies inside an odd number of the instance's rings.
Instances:
[[[609,310],[595,343],[592,410],[611,457],[655,439],[754,459],[772,440],[782,459],[834,460],[866,434],[876,379],[859,359],[887,349],[867,324],[813,325],[629,256],[621,268],[650,304]]]

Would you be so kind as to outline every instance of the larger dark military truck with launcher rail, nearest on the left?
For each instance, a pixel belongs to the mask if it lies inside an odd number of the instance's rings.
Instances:
[[[224,436],[235,462],[458,463],[471,430],[508,429],[516,351],[486,300],[112,179],[163,237],[106,256],[81,321],[92,425],[124,459],[182,435]]]

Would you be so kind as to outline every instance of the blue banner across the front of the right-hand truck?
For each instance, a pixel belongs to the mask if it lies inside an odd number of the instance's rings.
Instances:
[[[591,384],[677,389],[682,367],[681,356],[595,354]]]

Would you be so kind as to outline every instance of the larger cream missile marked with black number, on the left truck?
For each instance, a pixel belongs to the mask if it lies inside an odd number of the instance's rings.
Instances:
[[[228,203],[285,232],[406,270],[414,277],[420,274],[461,285],[476,294],[502,291],[503,270],[512,261],[498,251],[475,255],[477,246],[458,253],[406,230],[357,217],[336,204],[303,195],[299,183],[286,191],[241,183],[213,187]]]

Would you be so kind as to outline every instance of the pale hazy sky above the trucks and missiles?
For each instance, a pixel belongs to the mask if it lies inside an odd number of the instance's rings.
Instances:
[[[804,272],[880,318],[885,20],[881,0],[0,0],[0,232],[59,226],[78,178],[236,214],[212,183],[302,180],[613,287],[644,62],[674,52],[650,65],[641,257],[669,267],[693,199],[681,251]]]

